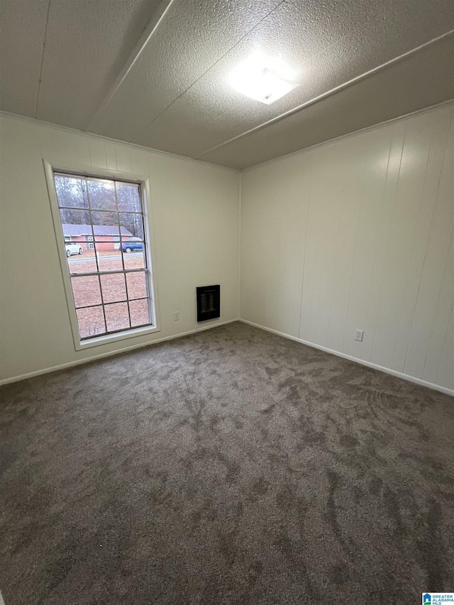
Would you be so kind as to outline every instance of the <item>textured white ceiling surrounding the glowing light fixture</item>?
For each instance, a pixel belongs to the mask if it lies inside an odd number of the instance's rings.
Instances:
[[[451,0],[0,6],[2,110],[239,169],[454,97]],[[270,106],[234,90],[255,49],[301,86]]]

